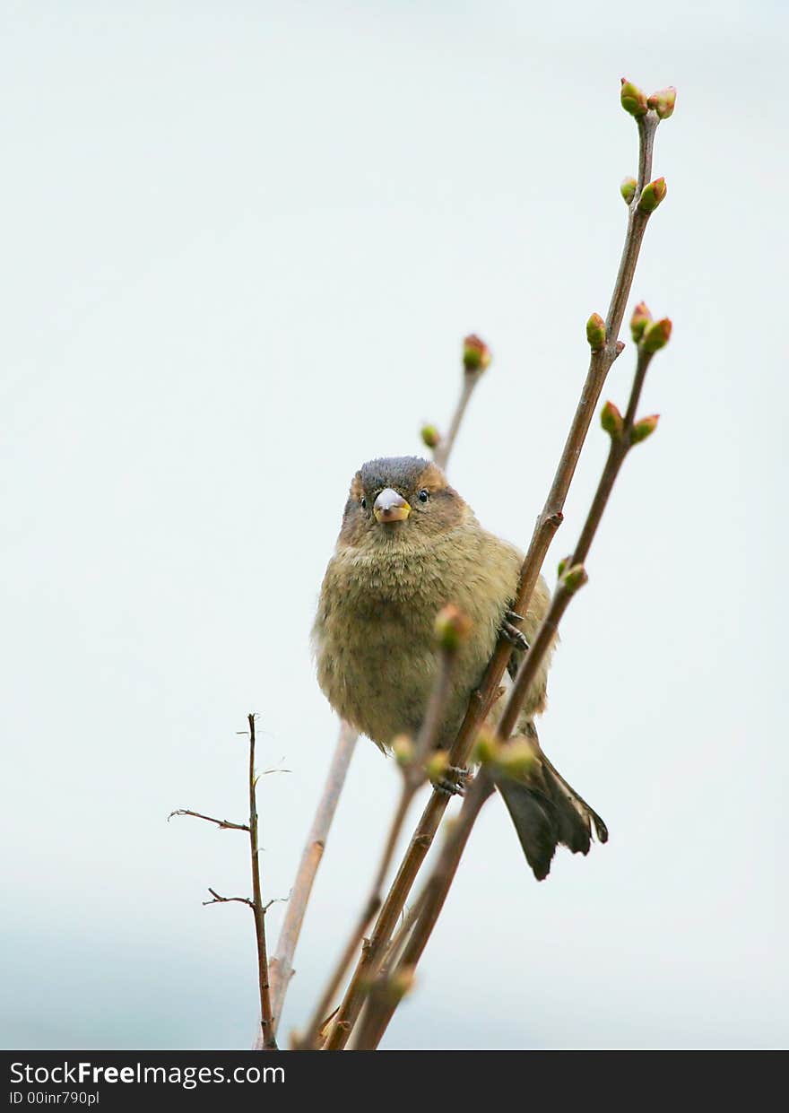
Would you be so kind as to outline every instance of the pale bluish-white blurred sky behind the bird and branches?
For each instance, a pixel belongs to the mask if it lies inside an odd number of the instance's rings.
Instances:
[[[166,816],[245,819],[258,711],[287,896],[347,483],[446,423],[470,331],[495,362],[452,479],[527,541],[620,254],[623,73],[679,88],[631,298],[674,334],[541,726],[611,840],[537,885],[491,801],[385,1046],[786,1046],[787,6],[0,10],[2,1046],[249,1045],[252,917],[200,905],[248,892],[246,844]],[[551,578],[604,452],[595,423]],[[363,740],[283,1034],[397,787]]]

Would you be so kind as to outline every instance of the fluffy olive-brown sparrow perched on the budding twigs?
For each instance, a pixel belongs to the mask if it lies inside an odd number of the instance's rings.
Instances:
[[[448,750],[500,637],[513,647],[512,678],[548,610],[542,577],[526,613],[512,610],[522,563],[514,545],[482,528],[434,462],[363,464],[351,481],[312,632],[318,684],[334,710],[384,752],[398,736],[416,737],[438,670],[436,614],[452,603],[471,632],[455,654],[437,732],[437,747]],[[516,778],[495,778],[537,880],[549,875],[558,845],[585,855],[592,828],[608,839],[603,820],[540,747],[534,718],[545,709],[554,646],[516,727],[534,760]]]

